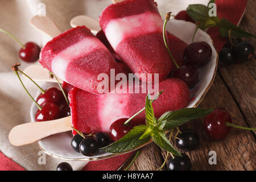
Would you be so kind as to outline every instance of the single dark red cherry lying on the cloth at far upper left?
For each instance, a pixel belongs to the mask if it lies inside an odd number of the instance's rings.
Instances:
[[[19,57],[27,63],[35,62],[39,59],[40,47],[34,42],[24,44],[25,48],[19,50]]]

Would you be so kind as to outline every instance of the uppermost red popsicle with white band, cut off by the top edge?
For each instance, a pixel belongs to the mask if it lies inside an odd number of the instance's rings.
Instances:
[[[112,4],[100,16],[100,26],[120,59],[138,73],[159,73],[159,81],[174,64],[164,46],[163,20],[153,0],[126,0]]]

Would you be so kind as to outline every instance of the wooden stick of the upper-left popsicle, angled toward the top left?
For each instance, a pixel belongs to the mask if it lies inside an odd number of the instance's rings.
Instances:
[[[39,16],[36,15],[31,18],[30,24],[35,27],[37,30],[44,32],[54,38],[55,36],[59,35],[61,31],[56,26],[51,18],[48,16]]]

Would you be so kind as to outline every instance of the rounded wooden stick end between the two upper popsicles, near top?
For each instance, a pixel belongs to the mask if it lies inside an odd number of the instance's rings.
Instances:
[[[75,16],[71,19],[70,25],[73,28],[77,26],[86,26],[90,29],[90,31],[92,31],[93,34],[97,34],[97,32],[101,30],[98,20],[85,15]]]

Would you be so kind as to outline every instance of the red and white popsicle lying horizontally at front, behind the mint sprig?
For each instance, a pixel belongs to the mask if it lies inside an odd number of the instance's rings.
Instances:
[[[164,92],[153,103],[156,117],[160,117],[166,111],[181,109],[188,104],[189,90],[182,80],[167,78],[159,83],[159,90]],[[130,118],[141,110],[144,107],[146,95],[146,93],[95,95],[73,88],[69,92],[72,125],[87,134],[97,131],[109,132],[109,127],[114,121]],[[131,121],[134,125],[144,122],[144,112]]]

